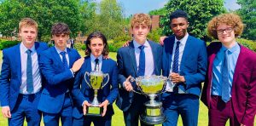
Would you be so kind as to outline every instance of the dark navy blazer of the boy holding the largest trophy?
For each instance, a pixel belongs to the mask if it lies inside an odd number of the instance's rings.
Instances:
[[[161,57],[162,57],[162,47],[159,43],[154,43],[148,41],[153,54],[154,59],[154,73],[155,75],[161,74]],[[119,68],[119,96],[116,101],[116,105],[122,111],[127,111],[133,99],[133,92],[128,92],[124,89],[123,83],[126,78],[131,75],[131,77],[137,77],[137,63],[134,51],[133,43],[129,46],[120,48],[117,53],[117,62]],[[133,89],[137,89],[136,83],[132,83]]]

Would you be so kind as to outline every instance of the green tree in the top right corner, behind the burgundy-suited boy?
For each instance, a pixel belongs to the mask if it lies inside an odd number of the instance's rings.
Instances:
[[[241,5],[241,9],[238,9],[237,12],[245,24],[241,37],[256,40],[256,1],[237,0],[237,3]]]

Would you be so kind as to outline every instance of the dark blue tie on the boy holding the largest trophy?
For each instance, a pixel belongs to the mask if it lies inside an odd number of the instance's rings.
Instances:
[[[139,46],[139,49],[141,49],[140,57],[139,57],[139,66],[138,66],[138,76],[144,76],[145,75],[145,52],[144,52],[144,46]]]

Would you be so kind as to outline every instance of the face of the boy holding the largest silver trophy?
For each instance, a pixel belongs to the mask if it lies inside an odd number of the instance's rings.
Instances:
[[[132,33],[137,43],[144,43],[147,39],[149,27],[146,25],[135,25],[132,28]]]

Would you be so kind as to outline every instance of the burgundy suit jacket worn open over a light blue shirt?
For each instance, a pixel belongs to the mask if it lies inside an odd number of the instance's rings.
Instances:
[[[212,64],[221,43],[211,43],[207,47],[208,69],[207,80],[201,95],[201,101],[211,107],[212,90]],[[233,77],[231,97],[234,112],[239,123],[253,126],[256,114],[256,54],[255,52],[240,45],[241,51],[238,55]]]

